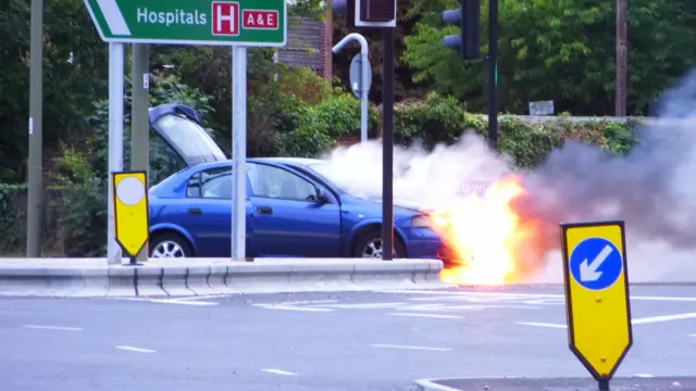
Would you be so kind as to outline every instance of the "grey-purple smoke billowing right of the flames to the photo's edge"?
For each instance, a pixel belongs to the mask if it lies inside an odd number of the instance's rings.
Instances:
[[[638,240],[696,249],[696,73],[658,100],[626,156],[569,141],[524,177],[520,209],[545,222],[623,219]]]

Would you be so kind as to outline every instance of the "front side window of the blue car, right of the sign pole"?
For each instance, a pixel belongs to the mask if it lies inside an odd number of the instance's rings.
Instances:
[[[314,185],[288,171],[257,163],[249,163],[247,167],[256,197],[296,201],[310,201],[316,197]]]

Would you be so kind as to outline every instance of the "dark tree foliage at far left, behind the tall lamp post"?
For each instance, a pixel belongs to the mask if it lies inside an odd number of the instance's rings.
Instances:
[[[44,138],[78,138],[95,99],[107,96],[108,46],[80,0],[45,3]],[[0,0],[0,181],[22,181],[27,151],[30,0]],[[47,162],[50,163],[50,162]]]

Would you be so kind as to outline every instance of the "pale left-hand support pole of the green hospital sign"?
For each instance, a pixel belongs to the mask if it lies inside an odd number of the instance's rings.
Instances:
[[[123,43],[109,43],[109,176],[123,169]],[[109,178],[108,263],[121,264],[115,239],[114,191]]]

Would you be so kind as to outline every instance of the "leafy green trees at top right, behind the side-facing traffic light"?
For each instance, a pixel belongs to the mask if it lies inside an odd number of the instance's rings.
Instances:
[[[482,51],[487,52],[487,4],[482,4]],[[485,65],[464,63],[442,39],[442,11],[450,0],[418,0],[422,17],[407,37],[405,59],[438,91],[485,109]],[[629,113],[643,113],[696,60],[696,4],[688,0],[632,0],[629,16]],[[600,0],[500,0],[501,109],[523,113],[529,101],[554,100],[557,111],[612,115],[616,9]]]

